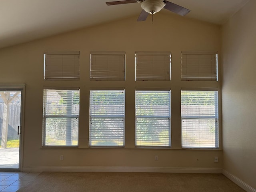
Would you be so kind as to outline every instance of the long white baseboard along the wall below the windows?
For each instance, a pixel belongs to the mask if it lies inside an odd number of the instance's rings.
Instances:
[[[158,173],[215,173],[221,168],[158,168],[158,167],[35,167],[23,166],[23,172],[158,172]]]

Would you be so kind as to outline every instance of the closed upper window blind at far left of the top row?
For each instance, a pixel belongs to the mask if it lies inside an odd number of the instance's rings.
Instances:
[[[45,80],[79,80],[80,52],[44,52]]]

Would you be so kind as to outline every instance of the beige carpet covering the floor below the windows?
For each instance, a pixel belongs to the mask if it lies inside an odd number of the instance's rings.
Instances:
[[[18,192],[245,192],[222,174],[42,172]]]

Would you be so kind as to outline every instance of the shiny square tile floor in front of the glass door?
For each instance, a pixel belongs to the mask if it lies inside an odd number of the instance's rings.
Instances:
[[[39,174],[40,172],[0,172],[0,192],[16,192]]]

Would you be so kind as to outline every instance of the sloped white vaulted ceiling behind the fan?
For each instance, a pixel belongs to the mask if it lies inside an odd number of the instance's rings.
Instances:
[[[138,3],[107,6],[106,1],[112,0],[0,0],[0,48],[141,12]],[[185,17],[223,24],[249,0],[169,1],[190,9]]]

